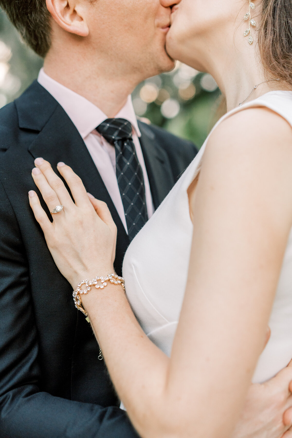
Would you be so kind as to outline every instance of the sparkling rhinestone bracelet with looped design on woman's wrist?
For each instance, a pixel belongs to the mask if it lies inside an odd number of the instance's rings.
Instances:
[[[100,281],[100,284],[99,284]],[[95,277],[93,280],[82,280],[77,284],[76,290],[73,291],[73,300],[75,303],[75,307],[80,310],[87,318],[88,314],[82,305],[81,295],[86,294],[91,290],[91,287],[95,287],[96,289],[103,289],[107,286],[107,282],[115,285],[121,285],[123,287],[123,291],[125,292],[125,280],[123,277],[119,277],[116,274],[108,274],[106,277]],[[85,284],[85,289],[82,290],[82,286]]]

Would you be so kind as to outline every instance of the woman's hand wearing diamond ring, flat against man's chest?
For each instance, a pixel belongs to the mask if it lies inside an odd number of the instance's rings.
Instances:
[[[106,203],[87,194],[81,179],[63,162],[57,168],[75,203],[49,162],[37,158],[35,166],[32,177],[49,211],[63,205],[61,212],[52,214],[51,223],[35,191],[29,192],[35,219],[60,272],[73,288],[81,279],[113,272],[117,230]]]

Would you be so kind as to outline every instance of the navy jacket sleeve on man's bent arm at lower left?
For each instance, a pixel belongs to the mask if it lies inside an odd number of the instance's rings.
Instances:
[[[138,438],[127,414],[40,392],[28,262],[0,183],[0,438]]]

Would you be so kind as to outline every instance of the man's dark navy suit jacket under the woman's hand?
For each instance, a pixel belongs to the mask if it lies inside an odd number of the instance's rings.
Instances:
[[[155,208],[197,153],[139,123]],[[34,159],[73,168],[105,201],[118,229],[116,272],[129,239],[67,113],[38,82],[0,110],[0,438],[137,438],[72,288],[58,271],[28,203]],[[42,202],[43,207],[46,206]]]

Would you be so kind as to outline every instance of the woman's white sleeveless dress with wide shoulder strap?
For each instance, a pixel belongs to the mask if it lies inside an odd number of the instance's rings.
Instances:
[[[292,92],[276,91],[230,111],[215,127],[231,114],[255,106],[272,109],[292,126]],[[127,297],[137,320],[168,356],[183,303],[193,234],[187,189],[199,173],[207,141],[131,242],[123,263]],[[172,281],[166,284],[164,278]],[[271,338],[259,358],[254,382],[271,378],[292,359],[292,230],[269,325]]]

